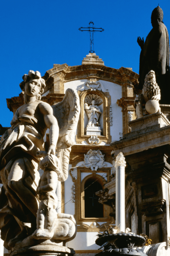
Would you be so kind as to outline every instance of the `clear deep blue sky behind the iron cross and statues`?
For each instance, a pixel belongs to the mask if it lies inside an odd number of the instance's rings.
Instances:
[[[89,52],[89,34],[80,32],[92,20],[104,32],[94,34],[94,50],[105,65],[132,67],[139,73],[136,40],[152,29],[150,16],[158,6],[170,33],[168,0],[4,0],[0,3],[0,124],[10,126],[13,113],[6,98],[18,96],[19,83],[29,70],[43,76],[53,64],[81,65]]]

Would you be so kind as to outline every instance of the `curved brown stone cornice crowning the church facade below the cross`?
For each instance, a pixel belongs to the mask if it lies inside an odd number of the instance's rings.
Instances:
[[[42,101],[53,105],[62,100],[65,82],[96,78],[97,80],[101,79],[119,84],[125,88],[127,86],[133,87],[139,75],[125,67],[114,69],[99,64],[85,64],[73,67],[68,66],[68,64],[54,64],[54,67],[46,71],[42,78],[45,79],[46,84],[44,93],[49,90],[48,95],[42,97]],[[126,90],[127,89],[122,89],[123,96],[127,96]],[[131,99],[133,97],[129,98]],[[124,101],[128,104],[128,100],[125,99]],[[19,97],[7,99],[7,106],[13,113],[23,104],[23,93],[20,93]]]

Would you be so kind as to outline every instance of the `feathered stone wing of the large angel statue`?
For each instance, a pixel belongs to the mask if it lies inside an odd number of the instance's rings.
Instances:
[[[57,142],[57,157],[61,162],[61,167],[65,181],[68,177],[68,163],[71,146],[75,143],[75,132],[79,120],[80,104],[77,91],[67,89],[62,102],[52,106],[53,114],[59,125],[59,139]]]

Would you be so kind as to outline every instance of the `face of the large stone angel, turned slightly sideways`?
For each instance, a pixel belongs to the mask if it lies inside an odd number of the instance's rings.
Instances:
[[[31,97],[37,96],[40,93],[41,83],[40,79],[31,79],[25,85],[24,92]]]

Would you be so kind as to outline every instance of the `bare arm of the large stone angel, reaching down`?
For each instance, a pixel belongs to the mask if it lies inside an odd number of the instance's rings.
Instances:
[[[40,103],[40,112],[44,117],[45,125],[47,128],[49,128],[50,146],[47,154],[49,155],[51,153],[55,155],[57,140],[59,136],[57,119],[53,116],[53,109],[51,106],[45,102]]]

